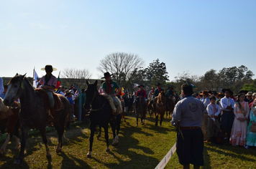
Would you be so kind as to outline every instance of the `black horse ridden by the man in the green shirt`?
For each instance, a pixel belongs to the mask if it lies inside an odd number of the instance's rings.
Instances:
[[[109,123],[111,125],[111,129],[113,132],[113,143],[112,145],[118,144],[118,134],[120,130],[120,123],[122,114],[119,114],[116,116],[116,119],[114,119],[114,115],[112,114],[112,109],[109,105],[108,100],[103,95],[100,95],[97,90],[97,83],[96,80],[93,84],[89,84],[86,81],[87,89],[86,89],[86,103],[84,105],[84,108],[86,110],[90,109],[90,149],[87,154],[87,158],[91,158],[91,152],[93,148],[93,136],[94,132],[96,130],[96,126],[99,125],[99,127],[104,128],[105,132],[105,140],[106,140],[106,152],[110,151],[109,148]],[[101,129],[100,129],[101,130]]]

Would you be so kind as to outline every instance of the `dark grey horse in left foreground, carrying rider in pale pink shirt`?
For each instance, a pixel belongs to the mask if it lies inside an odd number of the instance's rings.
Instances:
[[[13,77],[9,84],[8,90],[4,97],[5,105],[12,105],[14,100],[19,97],[21,111],[19,112],[19,121],[22,124],[22,145],[19,152],[19,158],[16,160],[16,164],[22,162],[24,158],[24,150],[26,145],[26,140],[28,136],[29,129],[36,128],[40,130],[42,135],[42,141],[45,143],[46,157],[50,160],[50,150],[47,145],[47,137],[45,127],[47,125],[48,113],[47,113],[47,103],[50,104],[49,100],[47,102],[44,100],[44,95],[42,95],[42,90],[34,90],[32,84],[24,77],[25,75],[17,75]],[[41,92],[40,92],[41,91]],[[47,95],[47,94],[46,94]],[[68,112],[70,109],[70,103],[63,95],[56,96],[60,99],[61,107],[55,110],[53,115],[53,124],[58,132],[58,146],[56,148],[56,153],[61,152],[62,148],[62,137],[64,133],[65,120],[68,117]],[[55,104],[57,105],[57,104]]]

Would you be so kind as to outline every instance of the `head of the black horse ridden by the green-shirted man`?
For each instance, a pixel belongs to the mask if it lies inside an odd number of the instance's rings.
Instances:
[[[93,102],[94,98],[96,97],[97,93],[99,95],[99,92],[97,90],[97,84],[98,81],[96,80],[94,83],[89,83],[86,80],[87,89],[86,89],[86,103],[84,104],[84,108],[86,110],[90,109],[90,105]]]

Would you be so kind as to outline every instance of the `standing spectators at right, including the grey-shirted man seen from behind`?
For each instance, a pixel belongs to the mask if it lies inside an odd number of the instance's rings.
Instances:
[[[209,141],[212,145],[256,146],[256,93],[241,90],[234,95],[223,89],[196,95],[191,85],[183,84],[180,97],[171,123],[178,130],[176,148],[183,168],[204,165],[204,143]]]

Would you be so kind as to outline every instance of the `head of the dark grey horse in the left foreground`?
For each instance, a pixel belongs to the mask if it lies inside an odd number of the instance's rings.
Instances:
[[[8,83],[8,90],[4,96],[4,105],[12,105],[17,100],[24,90],[25,75],[15,75]]]

